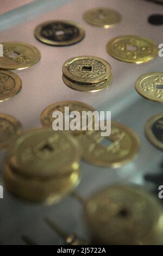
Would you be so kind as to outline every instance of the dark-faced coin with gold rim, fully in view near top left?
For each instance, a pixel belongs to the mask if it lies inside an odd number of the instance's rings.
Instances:
[[[85,31],[82,26],[72,21],[47,21],[35,28],[36,39],[54,46],[73,45],[81,41],[84,36]]]

